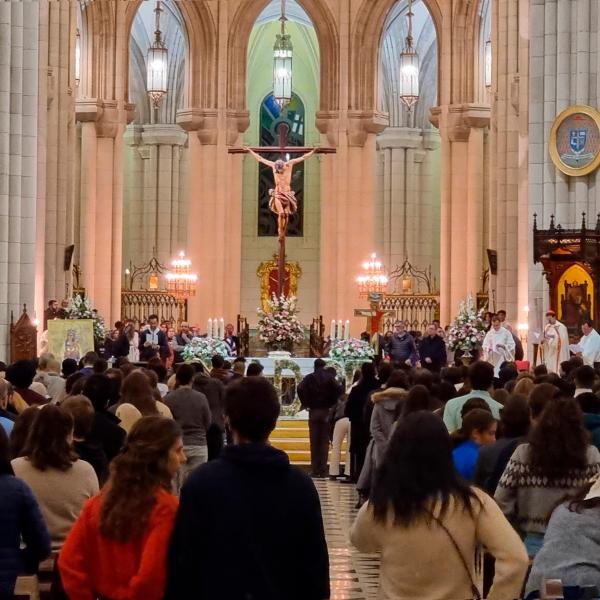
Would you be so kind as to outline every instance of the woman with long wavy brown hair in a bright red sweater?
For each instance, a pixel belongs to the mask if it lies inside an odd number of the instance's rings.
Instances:
[[[132,427],[110,479],[75,523],[58,559],[70,600],[160,600],[178,500],[171,481],[185,462],[172,419],[144,417]]]

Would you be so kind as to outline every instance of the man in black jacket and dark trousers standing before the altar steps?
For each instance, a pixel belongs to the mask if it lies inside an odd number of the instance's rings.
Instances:
[[[344,391],[335,380],[335,371],[326,369],[326,364],[317,358],[314,372],[307,375],[298,386],[300,402],[308,409],[311,474],[319,479],[328,476],[329,409]]]

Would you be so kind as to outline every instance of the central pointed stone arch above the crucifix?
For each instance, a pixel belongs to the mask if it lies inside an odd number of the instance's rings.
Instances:
[[[254,23],[269,0],[242,0],[236,10],[227,40],[227,108],[246,110],[247,48]],[[339,109],[339,34],[335,19],[323,0],[298,0],[311,18],[319,41],[322,111]]]

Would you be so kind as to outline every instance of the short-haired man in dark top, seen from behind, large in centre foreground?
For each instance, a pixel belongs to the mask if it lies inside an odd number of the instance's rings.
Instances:
[[[227,387],[234,444],[183,486],[165,600],[325,600],[329,559],[313,483],[267,443],[279,416],[263,377]],[[301,574],[290,579],[290,565]]]

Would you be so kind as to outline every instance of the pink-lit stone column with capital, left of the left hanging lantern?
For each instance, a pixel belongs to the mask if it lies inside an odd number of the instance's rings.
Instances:
[[[83,284],[95,308],[113,323],[121,313],[123,145],[133,106],[79,100],[82,122],[79,245]]]

